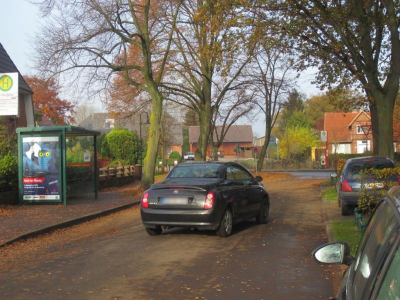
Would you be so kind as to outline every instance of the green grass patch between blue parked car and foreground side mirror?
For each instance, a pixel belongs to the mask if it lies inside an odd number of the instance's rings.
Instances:
[[[333,237],[337,241],[345,241],[350,247],[350,253],[355,255],[362,233],[358,231],[353,220],[332,222]]]

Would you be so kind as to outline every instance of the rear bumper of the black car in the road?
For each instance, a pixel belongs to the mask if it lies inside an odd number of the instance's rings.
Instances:
[[[195,227],[198,229],[219,228],[221,214],[215,209],[162,209],[140,208],[145,227]]]

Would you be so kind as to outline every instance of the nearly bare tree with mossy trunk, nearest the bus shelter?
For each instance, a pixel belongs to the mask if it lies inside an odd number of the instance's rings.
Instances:
[[[34,2],[34,1],[33,1]],[[154,181],[164,74],[182,0],[41,0],[46,23],[35,38],[38,69],[66,73],[75,86],[102,91],[114,74],[151,98],[150,128],[142,187]],[[99,85],[99,80],[104,84]]]

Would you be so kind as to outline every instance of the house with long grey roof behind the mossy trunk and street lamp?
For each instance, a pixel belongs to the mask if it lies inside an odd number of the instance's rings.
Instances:
[[[182,124],[176,123],[171,116],[166,116],[166,118],[169,123],[164,126],[161,138],[165,146],[166,158],[168,158],[172,151],[178,151],[179,154],[182,153],[183,136]],[[144,124],[145,121],[146,116],[143,113],[141,118],[141,136],[143,141],[147,140],[149,128],[148,124]],[[116,126],[122,126],[127,128],[129,131],[135,132],[137,136],[139,136],[139,123],[140,118],[137,113],[129,117],[119,117],[118,114],[114,112],[93,112],[81,121],[78,126],[86,129],[98,130],[105,134],[109,133],[112,128]]]

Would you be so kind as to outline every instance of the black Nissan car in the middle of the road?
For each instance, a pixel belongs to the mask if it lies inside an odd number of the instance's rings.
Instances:
[[[234,162],[178,164],[143,193],[143,225],[150,235],[192,227],[216,230],[224,237],[236,222],[255,217],[257,223],[266,223],[269,196],[261,180]]]

